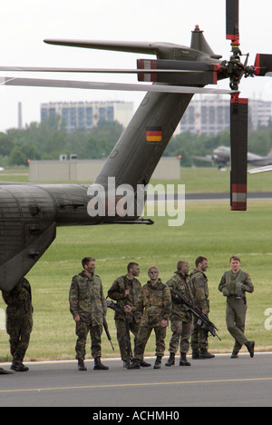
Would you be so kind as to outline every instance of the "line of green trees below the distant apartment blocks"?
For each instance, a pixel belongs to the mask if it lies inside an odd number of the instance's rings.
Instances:
[[[107,157],[123,132],[121,124],[101,121],[90,133],[77,129],[66,133],[58,116],[24,129],[0,133],[0,166],[27,165],[30,160],[57,160],[61,154],[75,153],[78,159]],[[183,166],[207,163],[196,162],[192,156],[211,154],[219,145],[229,146],[229,131],[217,135],[180,133],[172,137],[165,156],[181,155]],[[272,149],[272,123],[249,130],[248,151],[266,155]],[[208,164],[209,165],[209,164]]]

